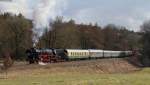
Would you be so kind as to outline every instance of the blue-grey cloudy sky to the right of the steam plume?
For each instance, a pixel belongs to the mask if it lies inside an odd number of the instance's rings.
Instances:
[[[150,0],[70,0],[64,13],[79,23],[112,23],[137,31],[150,19]]]

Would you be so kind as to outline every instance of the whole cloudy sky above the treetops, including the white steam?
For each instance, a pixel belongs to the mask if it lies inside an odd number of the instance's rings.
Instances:
[[[0,11],[22,13],[35,28],[48,26],[56,16],[77,23],[116,24],[139,30],[150,19],[150,0],[12,0],[0,1]]]

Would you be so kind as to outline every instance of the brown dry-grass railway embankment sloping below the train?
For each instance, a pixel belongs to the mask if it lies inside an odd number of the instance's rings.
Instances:
[[[34,71],[45,70],[47,72],[83,72],[83,73],[128,73],[140,70],[139,67],[128,62],[124,58],[99,59],[50,63],[45,66],[15,63],[9,71]]]

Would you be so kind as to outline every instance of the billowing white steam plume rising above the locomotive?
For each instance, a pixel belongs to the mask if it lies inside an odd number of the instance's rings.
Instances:
[[[50,21],[56,16],[62,16],[65,6],[66,0],[40,0],[33,11],[35,30],[39,31],[43,27],[49,27]]]

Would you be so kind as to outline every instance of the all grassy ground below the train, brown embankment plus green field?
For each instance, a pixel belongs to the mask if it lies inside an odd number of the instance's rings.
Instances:
[[[150,69],[123,59],[15,65],[0,85],[150,85]]]

